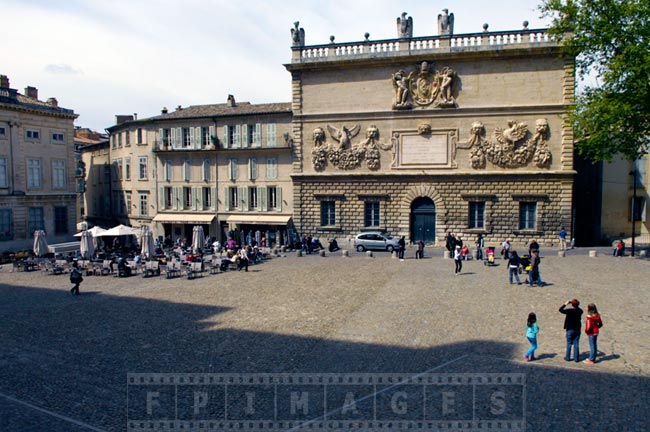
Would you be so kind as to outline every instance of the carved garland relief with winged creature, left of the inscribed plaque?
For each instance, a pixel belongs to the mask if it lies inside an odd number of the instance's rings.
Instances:
[[[350,170],[359,167],[365,160],[369,169],[378,170],[381,160],[379,150],[391,150],[393,146],[379,141],[379,129],[375,125],[368,127],[364,140],[358,144],[352,144],[352,139],[359,134],[360,129],[359,124],[354,125],[351,129],[346,126],[338,129],[327,125],[330,136],[339,145],[326,143],[327,137],[323,128],[314,129],[314,148],[311,152],[314,169],[322,171],[330,163],[339,169]]]

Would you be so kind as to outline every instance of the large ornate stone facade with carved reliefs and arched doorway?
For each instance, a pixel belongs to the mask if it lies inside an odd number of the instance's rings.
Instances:
[[[300,232],[552,244],[570,229],[573,60],[544,30],[446,31],[317,46],[294,37],[285,66]]]

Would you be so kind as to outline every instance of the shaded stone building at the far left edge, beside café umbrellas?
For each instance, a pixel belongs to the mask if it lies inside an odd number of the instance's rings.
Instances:
[[[31,249],[35,230],[49,243],[75,232],[74,111],[38,90],[21,94],[0,75],[0,251]]]

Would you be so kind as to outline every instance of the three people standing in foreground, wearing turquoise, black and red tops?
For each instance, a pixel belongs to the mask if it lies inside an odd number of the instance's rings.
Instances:
[[[560,313],[564,315],[564,330],[566,332],[566,352],[565,361],[580,361],[580,333],[582,328],[582,314],[580,302],[578,299],[572,299],[560,306]],[[603,321],[598,313],[598,308],[594,303],[587,305],[587,320],[584,332],[589,338],[589,357],[584,360],[586,364],[596,363],[598,355],[598,334],[603,326]],[[537,360],[535,350],[537,350],[537,333],[539,325],[537,316],[534,312],[528,314],[526,322],[526,338],[530,342],[530,349],[526,351],[524,358],[528,361]]]

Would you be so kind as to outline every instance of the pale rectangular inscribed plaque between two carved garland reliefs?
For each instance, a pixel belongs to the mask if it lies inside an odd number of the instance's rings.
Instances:
[[[447,134],[402,135],[400,165],[446,165]]]

